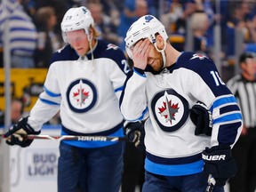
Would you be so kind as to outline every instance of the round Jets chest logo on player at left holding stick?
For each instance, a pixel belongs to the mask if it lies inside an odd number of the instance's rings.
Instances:
[[[90,81],[78,79],[69,85],[67,100],[68,106],[72,111],[84,113],[90,110],[96,103],[96,88]]]

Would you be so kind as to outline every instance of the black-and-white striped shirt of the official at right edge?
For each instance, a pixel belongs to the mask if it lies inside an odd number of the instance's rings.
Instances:
[[[229,79],[228,88],[236,97],[246,128],[256,128],[256,80],[248,81],[242,75]]]

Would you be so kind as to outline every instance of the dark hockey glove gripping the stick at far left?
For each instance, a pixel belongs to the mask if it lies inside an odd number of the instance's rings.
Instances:
[[[19,145],[22,148],[28,147],[33,140],[26,139],[28,134],[39,134],[28,124],[28,116],[21,118],[17,124],[14,124],[8,132],[4,134],[8,145]]]

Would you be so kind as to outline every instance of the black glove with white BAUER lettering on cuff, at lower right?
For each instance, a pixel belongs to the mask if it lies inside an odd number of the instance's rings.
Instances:
[[[214,146],[203,151],[204,172],[212,174],[216,186],[222,187],[237,172],[235,159],[229,146]]]

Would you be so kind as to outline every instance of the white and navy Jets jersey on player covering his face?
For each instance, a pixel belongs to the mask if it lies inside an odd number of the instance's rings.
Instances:
[[[148,172],[169,176],[202,172],[204,148],[233,147],[242,129],[235,97],[204,55],[183,52],[174,65],[157,75],[134,68],[121,98],[125,119],[138,121],[149,116],[145,123]],[[197,101],[212,112],[212,137],[195,135],[189,108]]]

